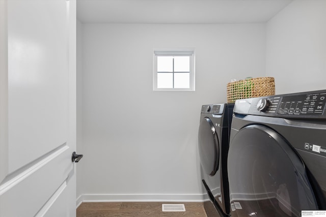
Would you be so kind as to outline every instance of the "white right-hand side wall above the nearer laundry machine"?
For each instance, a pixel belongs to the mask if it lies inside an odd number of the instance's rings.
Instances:
[[[268,21],[266,36],[277,94],[326,88],[326,1],[293,1]]]

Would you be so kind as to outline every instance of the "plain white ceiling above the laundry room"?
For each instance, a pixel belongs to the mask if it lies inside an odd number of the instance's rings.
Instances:
[[[77,0],[84,23],[267,22],[293,0]]]

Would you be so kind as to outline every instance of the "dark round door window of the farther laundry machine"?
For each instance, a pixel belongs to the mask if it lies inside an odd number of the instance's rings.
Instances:
[[[200,163],[204,172],[215,175],[219,169],[220,147],[212,121],[205,117],[200,121],[198,133]]]

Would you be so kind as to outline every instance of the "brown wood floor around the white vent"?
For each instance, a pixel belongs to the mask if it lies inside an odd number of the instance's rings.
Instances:
[[[162,212],[162,203],[171,204],[170,202],[82,203],[77,208],[77,217],[106,217],[106,216],[207,217],[203,203],[182,203],[185,206],[185,210],[186,210],[185,212]]]

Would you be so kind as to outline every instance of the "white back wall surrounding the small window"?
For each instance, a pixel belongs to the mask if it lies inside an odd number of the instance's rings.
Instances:
[[[264,76],[265,25],[102,23],[81,31],[78,201],[202,200],[201,105],[226,102],[232,78]],[[196,91],[152,90],[153,48],[166,47],[196,48]]]

